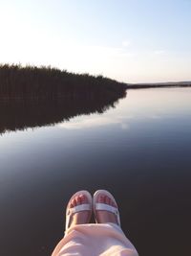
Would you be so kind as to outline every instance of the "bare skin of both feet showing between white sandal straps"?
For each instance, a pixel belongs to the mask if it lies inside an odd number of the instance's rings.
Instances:
[[[73,208],[75,206],[88,203],[88,198],[86,195],[77,195],[75,198],[73,198],[69,204],[70,208]],[[96,198],[96,203],[104,203],[107,205],[111,205],[113,207],[117,207],[115,201],[112,198],[109,198],[108,196],[104,194],[98,195]],[[91,220],[90,211],[82,211],[74,213],[74,215],[71,217],[70,227],[73,227],[76,224],[85,224],[89,223]],[[108,212],[108,211],[98,211],[96,210],[96,222],[97,223],[107,223],[112,222],[117,224],[117,217],[114,213]]]

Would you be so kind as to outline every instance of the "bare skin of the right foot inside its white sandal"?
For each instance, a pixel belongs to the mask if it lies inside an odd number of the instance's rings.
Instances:
[[[98,195],[96,203],[104,203],[117,208],[117,204],[115,203],[115,201],[106,195]],[[117,217],[114,213],[103,210],[96,210],[96,221],[98,223],[112,222],[118,224]]]

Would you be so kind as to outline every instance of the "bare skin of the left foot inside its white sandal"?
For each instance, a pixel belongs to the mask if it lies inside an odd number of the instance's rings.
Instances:
[[[80,194],[71,200],[71,202],[69,203],[69,208],[72,209],[75,206],[78,206],[81,204],[87,204],[87,203],[89,203],[88,198],[85,195]],[[77,224],[88,223],[90,221],[90,218],[91,218],[90,211],[81,211],[81,212],[74,213],[70,217],[69,227],[73,227],[74,225],[77,225]]]

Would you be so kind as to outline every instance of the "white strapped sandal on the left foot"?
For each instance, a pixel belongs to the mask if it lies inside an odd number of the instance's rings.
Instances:
[[[79,195],[84,195],[88,199],[87,203],[83,203],[74,207],[70,207],[71,201]],[[92,196],[91,194],[86,190],[81,190],[76,192],[72,198],[70,198],[68,205],[66,207],[66,225],[65,230],[67,230],[71,225],[71,218],[75,213],[83,212],[83,211],[90,211],[90,219],[92,215]]]

